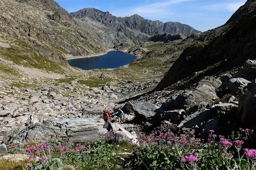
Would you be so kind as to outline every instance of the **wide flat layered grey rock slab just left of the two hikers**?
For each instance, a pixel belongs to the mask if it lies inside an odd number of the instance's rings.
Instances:
[[[103,126],[104,120],[99,117],[44,120],[42,124],[29,129],[26,140],[44,141],[65,138],[74,142],[95,141],[108,132]]]

